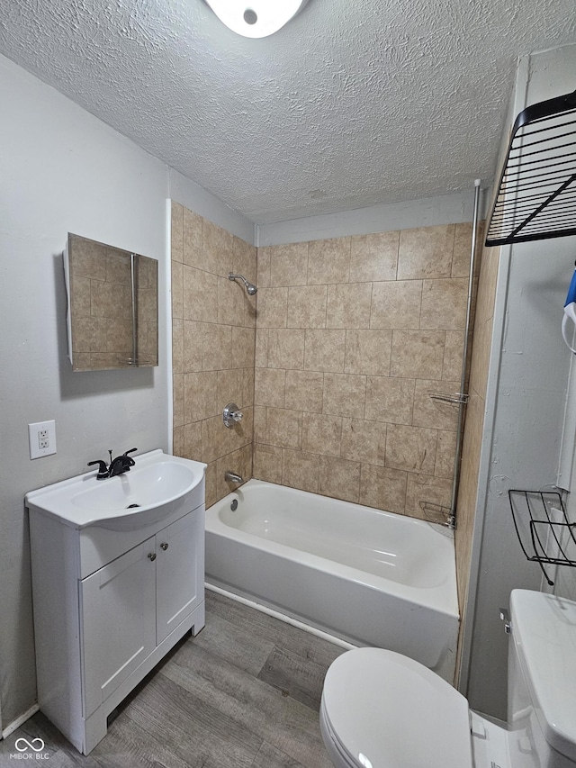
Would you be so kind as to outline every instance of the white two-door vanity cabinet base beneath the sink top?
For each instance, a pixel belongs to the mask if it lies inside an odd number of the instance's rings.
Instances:
[[[204,626],[204,465],[191,464],[199,482],[151,522],[145,510],[79,527],[40,506],[41,491],[26,497],[38,701],[83,754],[131,689]]]

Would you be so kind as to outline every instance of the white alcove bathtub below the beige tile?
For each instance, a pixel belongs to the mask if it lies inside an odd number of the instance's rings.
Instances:
[[[249,480],[206,511],[206,582],[453,680],[454,541],[440,527]]]

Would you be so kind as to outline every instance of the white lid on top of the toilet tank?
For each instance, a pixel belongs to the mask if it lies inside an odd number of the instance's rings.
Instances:
[[[576,761],[576,602],[513,590],[512,637],[545,739]]]

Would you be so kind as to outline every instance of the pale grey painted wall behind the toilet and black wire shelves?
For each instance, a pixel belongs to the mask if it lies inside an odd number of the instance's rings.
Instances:
[[[576,46],[520,62],[514,117],[574,89]],[[508,137],[506,139],[508,141]],[[473,709],[506,718],[508,636],[500,607],[516,587],[540,589],[541,572],[522,554],[508,490],[551,490],[556,482],[571,353],[560,332],[576,238],[502,248],[496,297],[478,524],[483,532],[473,619],[468,698]],[[545,487],[547,486],[547,488]],[[478,545],[478,541],[475,542]]]

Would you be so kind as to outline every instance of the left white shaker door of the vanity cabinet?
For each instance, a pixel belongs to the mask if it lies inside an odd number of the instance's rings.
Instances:
[[[80,582],[84,717],[156,647],[155,538]]]

